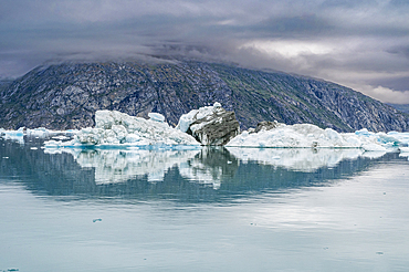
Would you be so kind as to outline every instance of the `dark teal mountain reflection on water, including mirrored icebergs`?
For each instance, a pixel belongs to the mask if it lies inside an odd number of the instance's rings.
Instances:
[[[0,140],[0,180],[36,195],[220,201],[325,186],[398,154],[359,149],[43,150]]]

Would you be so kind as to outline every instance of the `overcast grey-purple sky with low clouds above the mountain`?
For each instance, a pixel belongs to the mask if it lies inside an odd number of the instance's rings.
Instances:
[[[0,77],[44,62],[169,54],[409,103],[408,0],[1,0]]]

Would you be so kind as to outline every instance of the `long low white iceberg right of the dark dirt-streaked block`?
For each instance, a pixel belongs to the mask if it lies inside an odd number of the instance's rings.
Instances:
[[[356,133],[337,133],[311,124],[281,124],[276,128],[259,133],[243,132],[227,146],[239,147],[293,147],[293,148],[361,148],[370,151],[388,151],[399,145],[408,145],[408,133],[370,133],[366,128]]]

